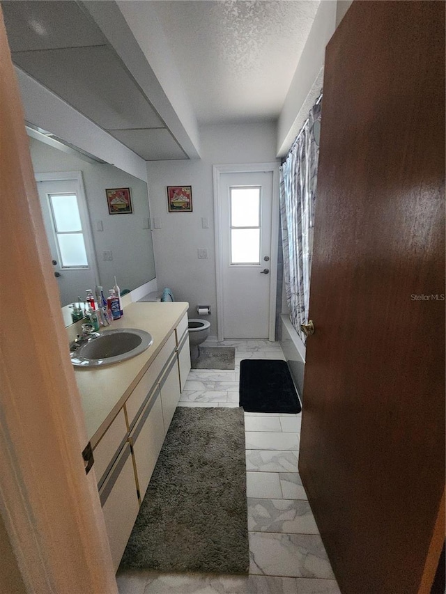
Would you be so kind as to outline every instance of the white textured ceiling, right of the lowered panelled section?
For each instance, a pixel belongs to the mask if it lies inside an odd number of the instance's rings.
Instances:
[[[201,123],[279,116],[319,1],[157,1]]]

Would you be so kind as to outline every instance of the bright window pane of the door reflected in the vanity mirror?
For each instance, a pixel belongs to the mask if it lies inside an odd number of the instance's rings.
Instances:
[[[49,211],[62,268],[88,268],[76,194],[48,194]]]

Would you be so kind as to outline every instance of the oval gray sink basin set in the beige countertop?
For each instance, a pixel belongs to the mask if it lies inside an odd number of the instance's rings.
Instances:
[[[136,357],[153,343],[151,334],[134,328],[107,330],[95,334],[81,345],[71,345],[71,362],[75,367],[98,367],[120,363]]]

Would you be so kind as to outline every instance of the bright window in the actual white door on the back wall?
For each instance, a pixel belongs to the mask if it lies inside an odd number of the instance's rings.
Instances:
[[[261,187],[231,187],[231,265],[260,264]]]

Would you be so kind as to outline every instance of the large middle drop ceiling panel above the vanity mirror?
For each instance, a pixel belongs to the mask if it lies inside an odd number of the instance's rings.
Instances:
[[[109,47],[15,52],[13,61],[106,130],[164,126]]]

